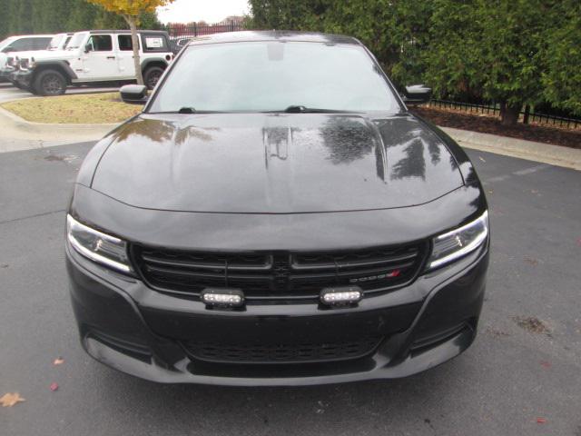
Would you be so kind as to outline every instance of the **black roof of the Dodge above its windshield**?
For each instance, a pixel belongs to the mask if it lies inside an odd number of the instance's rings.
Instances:
[[[361,45],[358,39],[347,35],[321,34],[319,32],[297,32],[285,30],[225,32],[223,34],[200,35],[192,38],[190,45],[241,43],[250,41],[308,42],[323,44]]]

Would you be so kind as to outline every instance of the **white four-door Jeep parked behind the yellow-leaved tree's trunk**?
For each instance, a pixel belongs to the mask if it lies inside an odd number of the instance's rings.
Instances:
[[[150,89],[172,62],[167,32],[140,30],[143,80]],[[66,50],[20,59],[17,84],[39,95],[64,94],[69,85],[123,84],[135,80],[128,30],[91,30],[73,35]]]

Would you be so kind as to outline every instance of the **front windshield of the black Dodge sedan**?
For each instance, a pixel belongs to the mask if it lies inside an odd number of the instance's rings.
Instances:
[[[187,48],[149,112],[282,112],[291,106],[399,111],[383,74],[359,45],[248,42]]]

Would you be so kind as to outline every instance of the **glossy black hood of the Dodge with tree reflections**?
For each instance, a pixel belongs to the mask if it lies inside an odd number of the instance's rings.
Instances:
[[[428,203],[463,184],[409,114],[142,114],[113,132],[91,187],[148,209],[315,213]]]

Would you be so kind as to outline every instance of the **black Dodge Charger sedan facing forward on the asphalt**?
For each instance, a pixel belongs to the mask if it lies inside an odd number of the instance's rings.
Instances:
[[[473,342],[487,202],[358,40],[192,40],[94,146],[66,217],[84,349],[151,381],[404,377]]]

